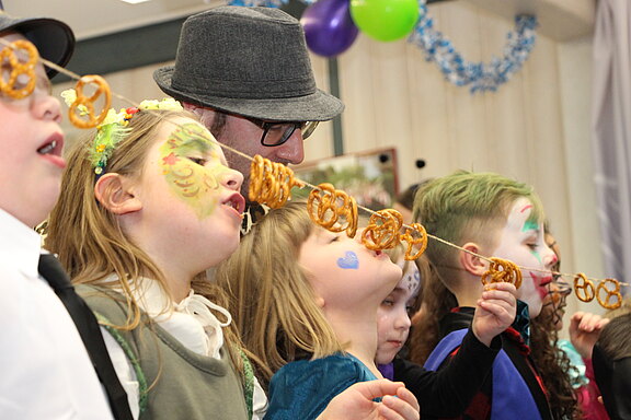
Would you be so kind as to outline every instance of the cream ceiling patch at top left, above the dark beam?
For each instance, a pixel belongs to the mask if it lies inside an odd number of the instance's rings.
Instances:
[[[66,22],[78,39],[170,21],[225,4],[220,0],[151,0],[129,4],[122,0],[0,0],[14,16],[55,18]]]

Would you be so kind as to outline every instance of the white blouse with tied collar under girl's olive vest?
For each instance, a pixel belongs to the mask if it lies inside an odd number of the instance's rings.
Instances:
[[[112,280],[114,278],[107,278],[104,282]],[[219,349],[223,346],[221,328],[230,325],[232,320],[230,313],[226,308],[199,294],[195,294],[193,290],[182,302],[174,304],[164,294],[158,282],[142,279],[139,283],[139,290],[135,291],[134,298],[147,315],[153,318],[158,325],[175,337],[188,350],[216,359],[220,358]],[[221,313],[223,315],[222,318],[226,319],[225,323],[219,322],[210,310]],[[138,419],[140,411],[138,405],[139,384],[134,368],[118,342],[106,329],[101,328],[101,330],[118,380],[127,393],[131,415],[134,419]],[[252,420],[263,419],[267,411],[267,397],[256,378],[254,378],[252,405]]]

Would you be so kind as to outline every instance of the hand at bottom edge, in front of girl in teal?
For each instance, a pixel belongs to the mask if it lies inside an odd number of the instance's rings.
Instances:
[[[381,402],[372,399],[382,397]],[[416,397],[401,382],[359,382],[329,402],[317,420],[418,420]]]

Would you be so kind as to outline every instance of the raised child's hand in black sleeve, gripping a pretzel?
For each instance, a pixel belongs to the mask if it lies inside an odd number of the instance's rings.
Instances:
[[[473,334],[486,346],[515,320],[517,290],[510,283],[491,283],[482,292],[473,316]]]

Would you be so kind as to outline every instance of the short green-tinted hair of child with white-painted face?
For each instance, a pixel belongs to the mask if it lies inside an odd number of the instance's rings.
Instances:
[[[506,223],[519,198],[532,203],[531,221],[544,220],[543,208],[532,187],[494,173],[458,171],[424,185],[414,200],[413,220],[427,233],[456,245],[474,242],[493,247],[497,230]],[[458,250],[431,241],[427,257],[450,289],[458,270]]]

